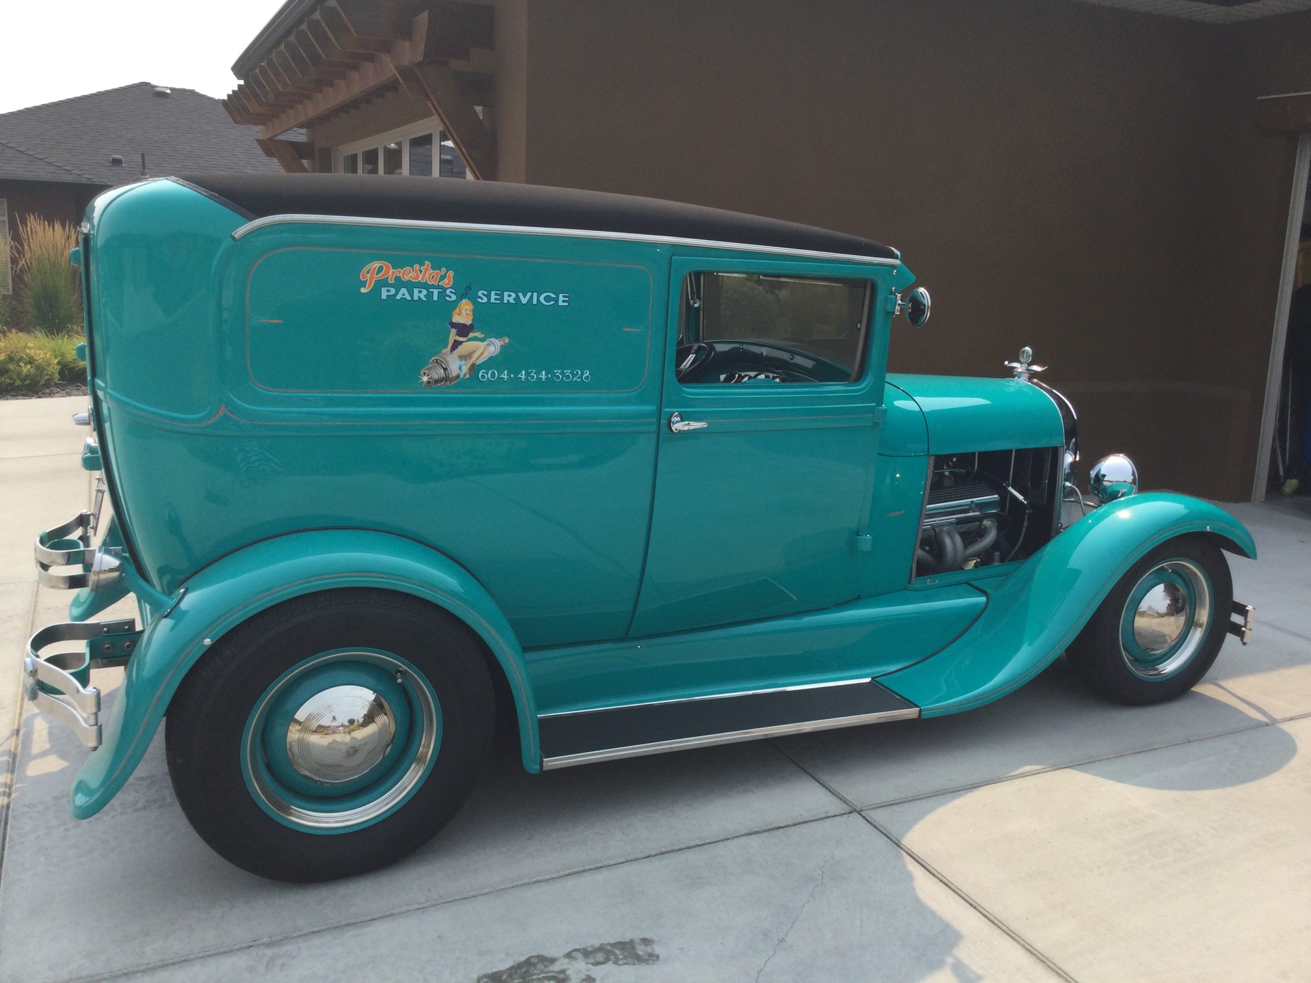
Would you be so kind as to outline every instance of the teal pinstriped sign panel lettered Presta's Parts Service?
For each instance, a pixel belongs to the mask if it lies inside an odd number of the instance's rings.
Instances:
[[[246,288],[246,366],[277,392],[631,392],[650,371],[644,266],[292,248]]]

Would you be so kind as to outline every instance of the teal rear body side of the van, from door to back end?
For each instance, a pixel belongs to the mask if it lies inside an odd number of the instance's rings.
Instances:
[[[96,385],[152,582],[172,592],[249,543],[362,527],[456,557],[526,645],[623,636],[669,248],[328,224],[233,241],[241,224],[172,182],[97,224]],[[362,279],[376,263],[427,275]],[[499,351],[425,387],[461,300]]]

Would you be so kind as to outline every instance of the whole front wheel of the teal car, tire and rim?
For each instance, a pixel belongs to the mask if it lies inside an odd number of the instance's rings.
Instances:
[[[1215,662],[1232,603],[1234,583],[1219,548],[1201,536],[1179,536],[1134,564],[1066,657],[1110,700],[1173,700]]]

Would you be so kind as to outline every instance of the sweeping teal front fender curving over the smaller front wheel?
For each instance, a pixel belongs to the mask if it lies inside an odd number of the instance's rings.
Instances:
[[[1083,516],[1004,579],[979,579],[987,608],[956,642],[878,682],[939,717],[982,706],[1029,682],[1066,650],[1125,571],[1168,539],[1209,533],[1256,560],[1243,523],[1188,495],[1150,492]]]

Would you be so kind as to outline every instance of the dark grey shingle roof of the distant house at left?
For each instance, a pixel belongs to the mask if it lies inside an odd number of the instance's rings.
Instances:
[[[281,173],[256,145],[258,130],[232,122],[194,89],[156,94],[134,83],[0,114],[0,178],[126,185],[180,172]],[[123,159],[110,164],[111,156]]]

